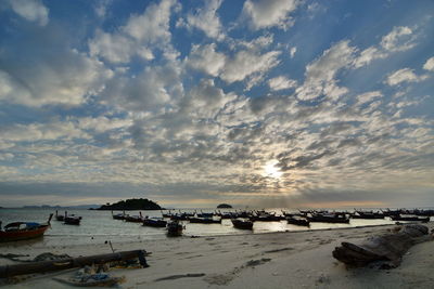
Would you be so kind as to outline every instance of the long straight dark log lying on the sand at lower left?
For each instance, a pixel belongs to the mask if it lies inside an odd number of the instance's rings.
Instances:
[[[0,266],[0,278],[9,278],[17,275],[44,273],[74,267],[82,267],[91,264],[104,264],[115,261],[127,261],[139,259],[140,265],[146,267],[146,252],[144,250],[124,251],[110,254],[98,254],[88,257],[66,258],[60,260],[50,260],[41,262],[31,262],[26,264],[14,264]]]

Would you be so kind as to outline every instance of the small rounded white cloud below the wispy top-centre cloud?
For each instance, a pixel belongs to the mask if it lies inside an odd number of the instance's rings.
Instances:
[[[214,77],[220,74],[225,61],[225,54],[216,52],[215,43],[204,47],[193,45],[190,56],[187,58],[188,65]]]

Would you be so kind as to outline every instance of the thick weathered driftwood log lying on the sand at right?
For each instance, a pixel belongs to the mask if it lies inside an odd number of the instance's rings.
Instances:
[[[424,225],[409,224],[395,234],[374,236],[361,245],[342,242],[333,250],[333,257],[348,266],[366,266],[371,262],[380,268],[393,268],[400,264],[401,258],[414,244],[430,240],[429,228]]]

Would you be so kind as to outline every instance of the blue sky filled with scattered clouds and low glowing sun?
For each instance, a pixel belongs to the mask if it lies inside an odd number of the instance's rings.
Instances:
[[[434,206],[432,0],[0,0],[0,206]]]

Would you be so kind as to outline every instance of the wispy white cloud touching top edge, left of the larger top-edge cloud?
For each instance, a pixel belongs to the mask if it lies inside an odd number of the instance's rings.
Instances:
[[[188,28],[195,27],[205,32],[209,38],[221,40],[225,35],[221,31],[220,18],[217,15],[217,10],[220,8],[222,0],[205,1],[204,8],[196,9],[194,14],[187,16]]]

